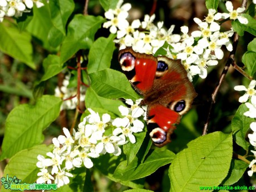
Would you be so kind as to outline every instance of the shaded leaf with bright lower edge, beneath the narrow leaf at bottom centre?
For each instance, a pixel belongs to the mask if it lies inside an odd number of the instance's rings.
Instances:
[[[102,174],[106,175],[107,178],[115,182],[120,182],[122,185],[129,186],[130,188],[143,188],[145,179],[138,179],[134,181],[121,181],[114,178],[113,173],[120,163],[124,160],[124,156],[114,156],[110,154],[101,155],[100,157],[93,159],[93,166],[101,171]]]

